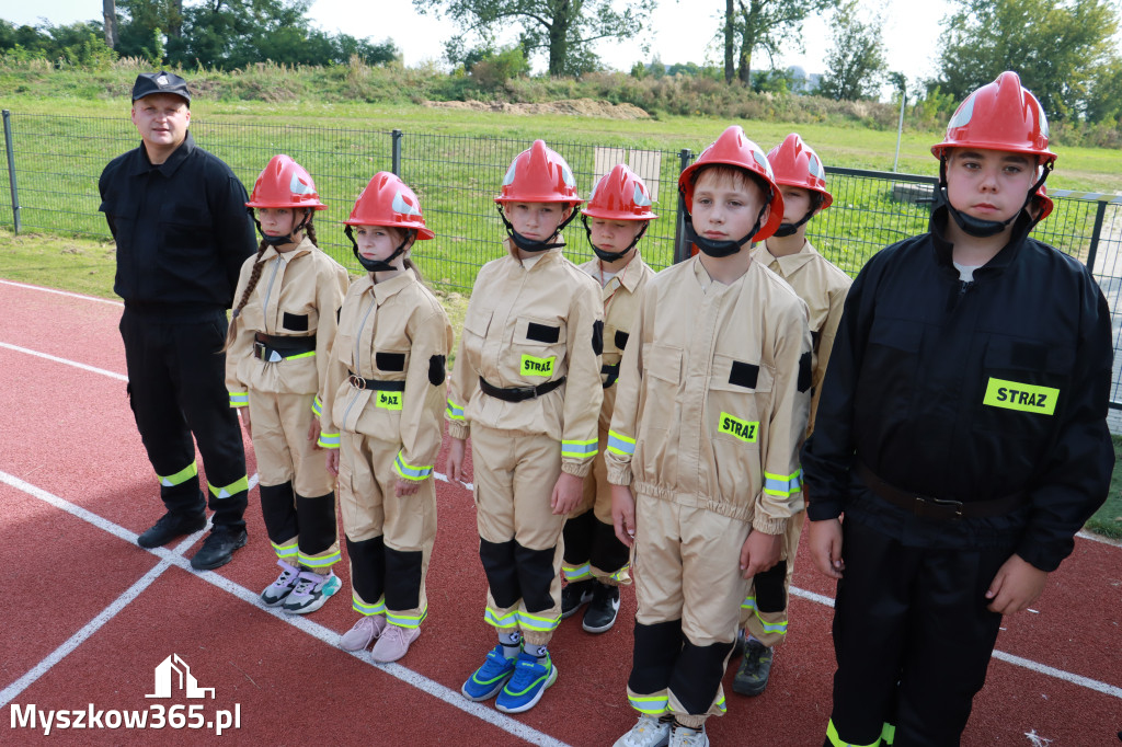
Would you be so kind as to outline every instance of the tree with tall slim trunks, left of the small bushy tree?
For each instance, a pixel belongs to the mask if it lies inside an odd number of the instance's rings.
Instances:
[[[414,0],[416,2],[417,0]],[[734,34],[739,37],[739,64],[736,71],[742,83],[751,83],[752,54],[756,48],[767,53],[769,61],[785,42],[801,44],[802,21],[837,6],[838,0],[736,0],[739,12],[733,19]],[[726,4],[725,27],[729,26]],[[728,70],[725,79],[732,80]]]

